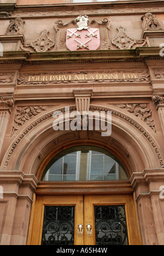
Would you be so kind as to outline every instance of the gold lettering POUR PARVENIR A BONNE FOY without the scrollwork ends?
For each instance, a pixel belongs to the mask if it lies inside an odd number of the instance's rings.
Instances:
[[[138,79],[138,73],[30,75],[28,82]]]

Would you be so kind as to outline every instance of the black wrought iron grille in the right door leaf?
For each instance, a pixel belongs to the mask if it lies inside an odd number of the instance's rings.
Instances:
[[[125,206],[95,206],[96,245],[128,245]]]

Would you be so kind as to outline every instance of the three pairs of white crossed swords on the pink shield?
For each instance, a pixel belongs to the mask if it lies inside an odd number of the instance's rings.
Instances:
[[[98,28],[96,28],[95,30],[93,30],[93,31],[91,32],[89,29],[87,29],[87,31],[89,32],[89,34],[86,34],[86,37],[85,37],[85,38],[90,37],[91,35],[92,35],[92,37],[96,37],[96,38],[97,38],[97,34],[95,34],[95,32],[96,32],[97,30],[98,30]],[[73,35],[74,35],[76,38],[77,38],[77,37],[81,38],[81,37],[80,37],[80,34],[77,34],[77,31],[78,31],[78,30],[75,30],[74,32],[71,31],[71,30],[68,30],[68,31],[71,32],[71,34],[69,34],[69,36],[67,37],[67,39],[72,38]],[[89,46],[86,45],[86,44],[89,43],[89,42],[92,40],[92,38],[89,39],[89,40],[87,40],[85,43],[81,43],[81,42],[80,42],[79,40],[77,40],[77,39],[74,39],[74,40],[75,40],[77,43],[79,43],[77,50],[83,49],[83,47],[84,47],[84,49],[89,50]]]

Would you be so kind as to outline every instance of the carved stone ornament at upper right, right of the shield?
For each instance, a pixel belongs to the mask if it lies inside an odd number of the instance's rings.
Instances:
[[[157,19],[156,15],[151,13],[147,13],[142,16],[141,20],[143,20],[143,30],[161,30],[161,24]]]

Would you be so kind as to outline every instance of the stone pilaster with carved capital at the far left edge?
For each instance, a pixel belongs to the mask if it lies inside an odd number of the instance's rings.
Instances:
[[[8,121],[10,118],[11,109],[14,107],[13,96],[0,96],[0,154],[7,131]]]

